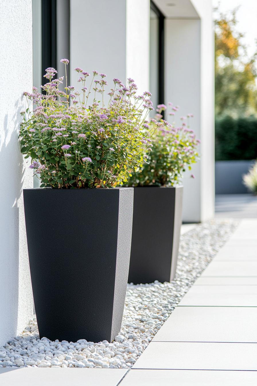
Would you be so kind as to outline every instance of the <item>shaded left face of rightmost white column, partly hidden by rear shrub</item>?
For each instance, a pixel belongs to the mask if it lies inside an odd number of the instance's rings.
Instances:
[[[177,124],[181,116],[194,114],[191,128],[200,139],[200,20],[165,20],[165,101],[180,106]],[[182,181],[183,221],[200,221],[200,180],[198,162]]]

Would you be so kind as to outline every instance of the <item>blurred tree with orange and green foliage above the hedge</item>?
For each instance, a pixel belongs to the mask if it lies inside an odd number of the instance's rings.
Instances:
[[[234,118],[257,114],[257,52],[247,58],[242,44],[243,34],[237,32],[235,8],[226,15],[215,8],[215,113],[216,117]]]

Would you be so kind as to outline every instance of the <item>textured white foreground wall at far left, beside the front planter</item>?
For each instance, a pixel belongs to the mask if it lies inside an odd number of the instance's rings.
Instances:
[[[22,188],[33,186],[18,144],[23,91],[32,91],[31,0],[0,2],[0,344],[33,312]]]

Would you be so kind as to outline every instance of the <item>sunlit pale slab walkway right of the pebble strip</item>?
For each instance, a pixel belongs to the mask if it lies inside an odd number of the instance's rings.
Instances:
[[[257,220],[243,220],[121,386],[257,384]]]

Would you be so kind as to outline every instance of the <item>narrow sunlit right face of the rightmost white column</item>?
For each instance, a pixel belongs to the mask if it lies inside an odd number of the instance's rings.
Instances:
[[[191,0],[201,17],[201,201],[202,221],[215,211],[214,32],[212,0]]]

